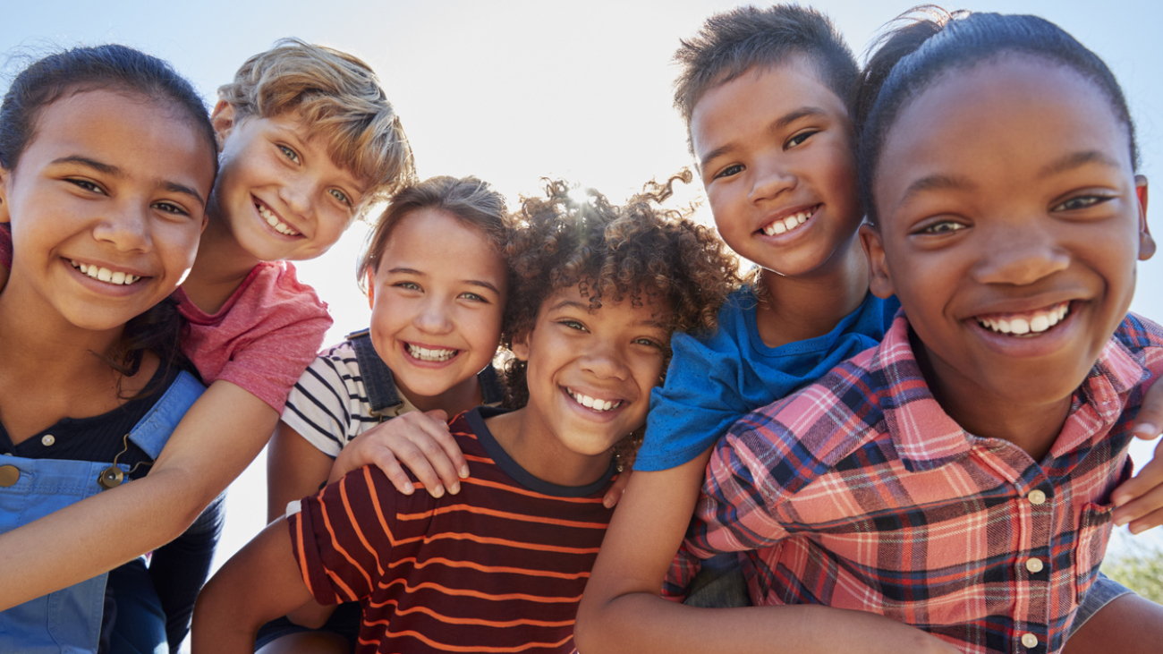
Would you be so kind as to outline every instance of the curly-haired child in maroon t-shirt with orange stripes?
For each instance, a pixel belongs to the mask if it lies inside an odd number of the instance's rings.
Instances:
[[[312,598],[363,603],[363,652],[573,651],[615,446],[633,449],[671,332],[712,328],[733,278],[713,232],[654,191],[618,207],[555,183],[523,201],[505,248],[509,410],[449,424],[471,469],[461,492],[406,496],[362,468],[302,500],[206,587],[195,652],[249,653],[261,624]]]

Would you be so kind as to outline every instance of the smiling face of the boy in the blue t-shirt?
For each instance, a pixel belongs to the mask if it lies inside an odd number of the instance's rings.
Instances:
[[[842,261],[862,220],[851,133],[802,57],[707,91],[691,141],[723,241],[787,276]]]

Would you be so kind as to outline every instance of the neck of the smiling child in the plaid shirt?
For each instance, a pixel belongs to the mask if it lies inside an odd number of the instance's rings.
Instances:
[[[989,394],[932,356],[912,333],[909,341],[933,397],[963,429],[975,436],[1009,441],[1034,461],[1041,461],[1050,452],[1070,413],[1070,397],[1019,403]]]

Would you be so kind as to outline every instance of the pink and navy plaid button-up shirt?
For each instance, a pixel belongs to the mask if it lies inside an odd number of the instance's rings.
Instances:
[[[747,552],[757,604],[882,613],[968,653],[1057,652],[1098,575],[1163,330],[1128,315],[1035,462],[937,405],[898,317],[883,343],[715,447],[665,592]]]

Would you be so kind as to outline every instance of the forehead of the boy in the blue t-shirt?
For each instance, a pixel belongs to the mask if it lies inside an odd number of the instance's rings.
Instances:
[[[739,131],[761,130],[787,112],[816,107],[848,121],[848,107],[825,84],[820,66],[806,55],[791,55],[772,65],[748,69],[708,88],[691,111],[691,144],[695,158]]]

